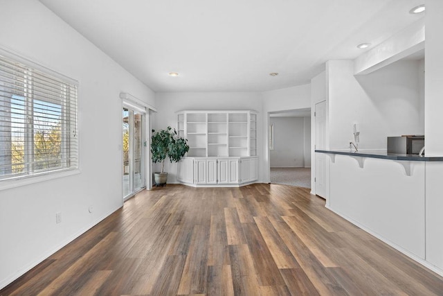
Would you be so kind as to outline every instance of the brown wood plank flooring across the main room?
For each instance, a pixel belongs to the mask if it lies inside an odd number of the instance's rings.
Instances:
[[[443,295],[443,279],[274,184],[142,191],[0,295]]]

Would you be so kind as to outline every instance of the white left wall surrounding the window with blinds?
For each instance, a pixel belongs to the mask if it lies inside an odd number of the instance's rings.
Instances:
[[[119,94],[155,102],[149,88],[39,1],[1,1],[0,6],[1,47],[80,83],[81,170],[0,191],[1,288],[122,206]],[[58,211],[62,223],[55,224]]]

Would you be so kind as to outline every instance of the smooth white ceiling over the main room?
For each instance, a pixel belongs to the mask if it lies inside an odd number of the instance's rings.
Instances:
[[[309,82],[417,21],[424,0],[39,0],[155,92]],[[367,49],[366,49],[367,50]],[[171,71],[178,77],[168,76]],[[271,72],[278,72],[275,77]]]

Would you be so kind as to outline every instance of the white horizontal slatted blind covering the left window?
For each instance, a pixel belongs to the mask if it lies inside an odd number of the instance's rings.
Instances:
[[[78,168],[77,85],[17,60],[0,53],[0,180]]]

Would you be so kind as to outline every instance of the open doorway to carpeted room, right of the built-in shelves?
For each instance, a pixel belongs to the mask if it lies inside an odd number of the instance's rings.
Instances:
[[[273,184],[311,188],[311,108],[269,114]]]

